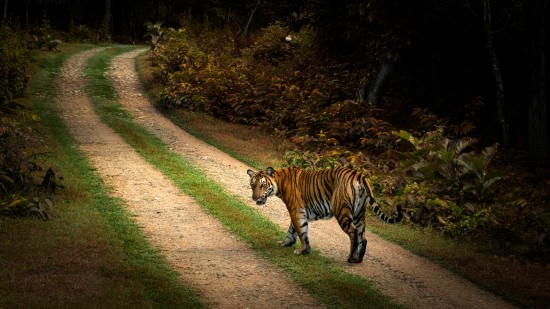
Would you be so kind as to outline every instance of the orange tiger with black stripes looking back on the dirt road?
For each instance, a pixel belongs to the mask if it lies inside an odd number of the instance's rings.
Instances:
[[[367,248],[365,210],[373,212],[387,223],[403,218],[400,205],[397,215],[388,217],[374,199],[366,176],[356,170],[338,167],[320,171],[304,171],[297,167],[265,171],[247,170],[250,176],[252,199],[264,205],[270,196],[279,197],[290,215],[290,226],[281,246],[290,247],[300,239],[295,254],[309,254],[308,221],[336,217],[340,228],[349,236],[349,263],[361,263]]]

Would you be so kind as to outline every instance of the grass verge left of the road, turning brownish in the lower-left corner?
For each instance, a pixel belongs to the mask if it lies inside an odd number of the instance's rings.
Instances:
[[[50,221],[0,218],[0,307],[202,307],[109,196],[58,116],[60,67],[91,47],[46,54],[30,85],[49,153],[42,164],[63,176],[65,188],[50,196]]]

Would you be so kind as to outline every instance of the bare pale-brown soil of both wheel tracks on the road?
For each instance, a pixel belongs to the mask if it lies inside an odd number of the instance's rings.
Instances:
[[[121,198],[149,242],[161,252],[181,281],[215,308],[319,308],[322,304],[297,286],[282,269],[263,260],[221,223],[185,196],[149,165],[112,129],[101,122],[84,94],[83,68],[101,48],[72,57],[59,78],[58,102],[78,146],[99,175]],[[250,167],[192,137],[159,113],[148,100],[135,71],[135,58],[145,49],[112,62],[119,102],[134,120],[185,157],[231,195],[251,200],[246,170]],[[259,211],[288,228],[284,204],[271,198]],[[204,227],[208,227],[208,231]],[[395,302],[415,308],[512,308],[493,294],[433,262],[368,234],[365,260],[346,262],[349,240],[334,220],[310,225],[310,244],[353,274],[370,280]],[[208,234],[208,239],[205,238]],[[276,245],[276,244],[274,244]],[[282,249],[283,250],[283,249]],[[289,251],[289,258],[292,258]],[[306,257],[307,258],[307,257]]]

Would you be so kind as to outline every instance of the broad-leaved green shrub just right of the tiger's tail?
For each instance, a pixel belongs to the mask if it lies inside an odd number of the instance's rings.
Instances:
[[[492,201],[491,190],[503,178],[489,170],[498,144],[476,154],[466,152],[475,139],[449,140],[442,128],[422,138],[406,131],[393,134],[414,148],[400,153],[404,158],[401,168],[410,180],[399,197],[414,222],[439,225],[457,236],[495,221],[492,209],[485,205]]]

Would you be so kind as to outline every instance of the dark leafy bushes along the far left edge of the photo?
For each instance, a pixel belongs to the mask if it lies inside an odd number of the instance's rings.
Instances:
[[[0,215],[49,218],[51,202],[29,196],[33,173],[41,170],[36,163],[40,136],[30,125],[37,116],[16,100],[29,81],[29,47],[40,47],[35,42],[17,26],[0,26]]]

